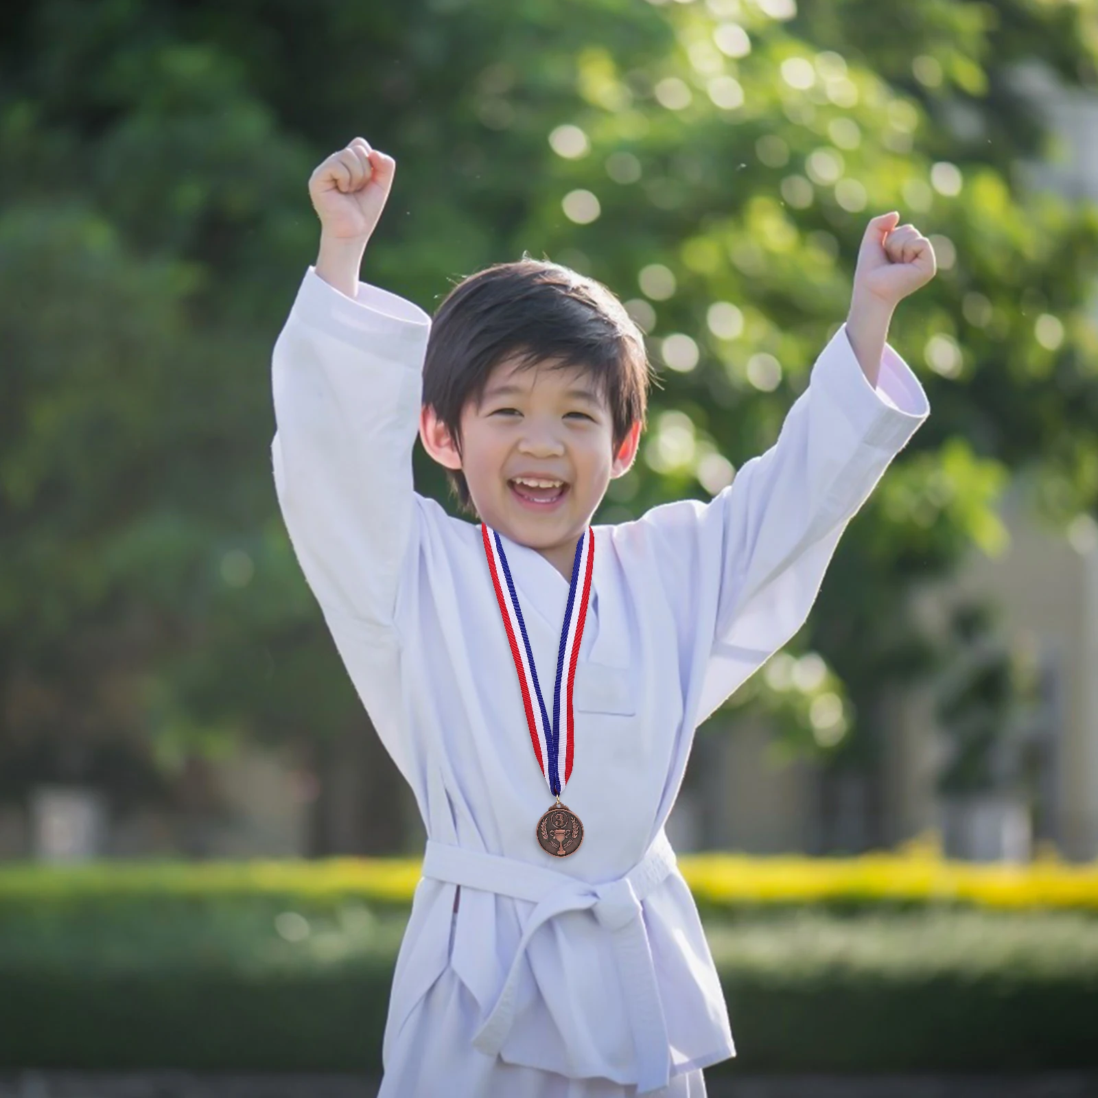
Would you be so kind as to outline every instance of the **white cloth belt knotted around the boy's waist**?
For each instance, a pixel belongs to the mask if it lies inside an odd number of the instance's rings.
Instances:
[[[537,905],[523,929],[500,998],[473,1044],[489,1055],[497,1054],[503,1046],[515,1020],[523,954],[538,927],[563,911],[590,909],[608,931],[614,948],[637,1053],[638,1094],[665,1087],[671,1076],[668,1028],[640,904],[674,865],[675,852],[663,831],[624,877],[601,885],[590,885],[517,859],[482,854],[428,839],[423,861],[425,877],[514,896]]]

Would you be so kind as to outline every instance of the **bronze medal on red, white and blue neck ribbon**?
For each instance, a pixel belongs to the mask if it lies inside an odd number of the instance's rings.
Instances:
[[[511,568],[503,551],[500,535],[481,523],[484,556],[495,600],[500,605],[500,616],[507,634],[511,656],[518,673],[518,686],[526,710],[526,725],[534,744],[541,773],[549,783],[549,792],[557,803],[538,820],[535,834],[541,849],[554,858],[573,853],[583,842],[583,825],[580,817],[568,805],[560,803],[560,794],[572,776],[574,744],[574,721],[572,718],[572,684],[575,681],[575,664],[580,656],[580,641],[587,619],[587,600],[591,595],[591,575],[595,560],[595,533],[589,526],[575,544],[572,561],[572,582],[568,589],[568,604],[564,621],[560,629],[560,649],[557,657],[557,682],[552,694],[552,719],[541,696],[534,652],[526,636],[523,610],[518,605],[518,593],[511,578]],[[535,710],[535,703],[537,710]],[[540,719],[539,719],[540,718]]]

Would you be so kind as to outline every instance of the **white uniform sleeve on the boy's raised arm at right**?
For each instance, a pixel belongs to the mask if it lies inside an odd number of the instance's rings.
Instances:
[[[683,685],[698,722],[805,623],[847,524],[929,414],[892,346],[870,384],[843,324],[769,450],[709,503],[645,516],[659,571],[674,578]]]

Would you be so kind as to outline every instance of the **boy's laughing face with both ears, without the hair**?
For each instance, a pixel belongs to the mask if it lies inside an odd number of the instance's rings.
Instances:
[[[461,469],[481,519],[571,573],[576,539],[637,452],[634,424],[614,450],[609,406],[582,369],[501,362],[480,402],[461,412],[461,452],[434,410],[421,415],[427,451]],[[533,483],[531,483],[533,481]]]

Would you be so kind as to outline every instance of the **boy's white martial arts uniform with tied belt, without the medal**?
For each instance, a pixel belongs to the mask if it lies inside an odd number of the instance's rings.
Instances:
[[[848,520],[929,415],[926,394],[892,347],[874,390],[840,328],[775,445],[731,485],[595,526],[561,796],[584,839],[556,859],[535,839],[553,798],[479,528],[413,490],[429,324],[310,267],[272,363],[287,528],[428,834],[381,1095],[696,1098],[701,1069],[735,1047],[663,832],[694,729],[804,623]],[[569,585],[503,541],[551,690]]]

